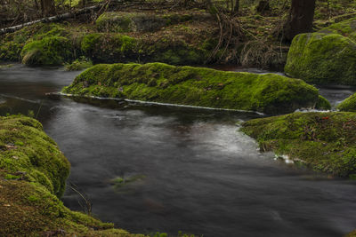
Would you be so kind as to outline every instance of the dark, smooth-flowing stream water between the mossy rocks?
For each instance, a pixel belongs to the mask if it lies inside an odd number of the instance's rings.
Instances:
[[[134,233],[341,236],[356,228],[355,182],[260,154],[236,122],[255,114],[52,99],[77,73],[0,69],[0,113],[32,110],[72,164],[93,215]],[[323,89],[328,99],[352,89]],[[105,107],[103,107],[105,105]],[[117,177],[140,178],[115,187]],[[78,195],[63,201],[81,209]]]

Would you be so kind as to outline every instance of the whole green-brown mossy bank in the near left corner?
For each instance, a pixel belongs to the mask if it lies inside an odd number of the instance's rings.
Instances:
[[[67,209],[59,200],[69,162],[42,125],[0,117],[1,236],[143,236]]]

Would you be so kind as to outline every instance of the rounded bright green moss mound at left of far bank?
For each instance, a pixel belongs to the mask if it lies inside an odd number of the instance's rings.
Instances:
[[[21,57],[22,63],[28,66],[59,65],[72,58],[72,45],[65,37],[44,37],[27,43]]]

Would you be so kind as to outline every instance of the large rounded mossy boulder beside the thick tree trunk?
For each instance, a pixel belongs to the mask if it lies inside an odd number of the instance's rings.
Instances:
[[[295,36],[285,71],[307,83],[356,85],[356,43],[338,34]]]

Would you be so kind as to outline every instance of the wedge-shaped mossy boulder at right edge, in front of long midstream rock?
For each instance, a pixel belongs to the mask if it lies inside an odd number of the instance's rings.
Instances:
[[[262,151],[274,151],[313,170],[348,177],[356,174],[356,113],[294,113],[255,119],[242,131]]]

